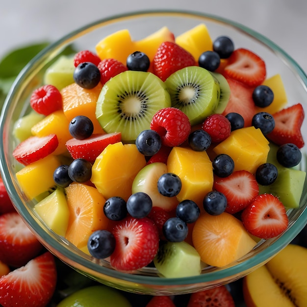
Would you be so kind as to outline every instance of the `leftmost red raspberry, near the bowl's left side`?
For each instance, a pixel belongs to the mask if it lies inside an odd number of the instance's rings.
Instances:
[[[62,109],[62,95],[55,86],[50,84],[43,85],[32,93],[30,105],[37,113],[47,116]]]

